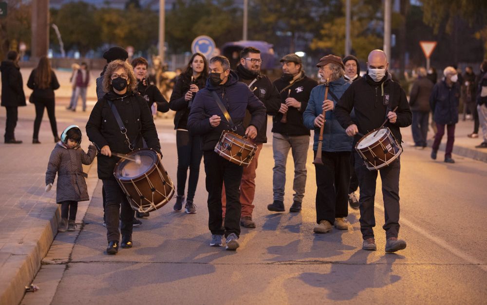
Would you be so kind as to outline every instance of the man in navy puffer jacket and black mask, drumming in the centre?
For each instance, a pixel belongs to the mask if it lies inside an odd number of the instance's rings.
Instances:
[[[224,130],[255,139],[265,121],[265,106],[238,81],[235,72],[230,71],[230,62],[225,56],[215,56],[209,61],[210,74],[206,87],[196,93],[187,127],[191,134],[201,135],[203,158],[208,192],[208,227],[211,231],[210,246],[222,246],[226,237],[226,250],[237,250],[240,235],[240,183],[243,167],[218,155],[214,149]],[[248,127],[243,121],[246,110],[251,118]],[[229,117],[229,118],[228,118]],[[233,126],[230,122],[233,122]],[[222,228],[222,186],[225,183],[226,214],[225,228]]]

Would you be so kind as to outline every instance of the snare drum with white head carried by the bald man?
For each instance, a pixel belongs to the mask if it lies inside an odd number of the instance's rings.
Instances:
[[[377,170],[391,164],[402,153],[389,128],[372,130],[355,144],[355,150],[362,157],[369,170]]]

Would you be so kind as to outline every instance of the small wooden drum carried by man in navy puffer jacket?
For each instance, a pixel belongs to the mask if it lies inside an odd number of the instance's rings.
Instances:
[[[226,160],[247,167],[254,159],[257,145],[235,132],[224,130],[215,145],[215,152]]]

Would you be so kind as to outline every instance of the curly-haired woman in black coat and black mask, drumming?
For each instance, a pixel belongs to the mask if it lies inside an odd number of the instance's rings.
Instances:
[[[130,64],[121,60],[109,63],[103,79],[103,87],[107,93],[98,100],[86,124],[88,138],[100,149],[98,178],[103,180],[106,192],[107,254],[118,252],[119,218],[122,220],[120,246],[132,247],[134,215],[113,176],[119,158],[112,157],[112,151],[126,154],[135,148],[142,148],[142,138],[149,148],[158,153],[161,151],[149,106],[138,95],[136,86],[137,81]]]

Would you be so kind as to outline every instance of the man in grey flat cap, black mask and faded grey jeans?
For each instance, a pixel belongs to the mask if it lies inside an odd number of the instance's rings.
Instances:
[[[286,161],[289,150],[294,159],[293,205],[289,212],[300,212],[306,185],[306,158],[309,148],[309,129],[303,125],[303,112],[308,105],[311,90],[318,83],[307,77],[302,69],[301,57],[287,54],[281,58],[282,76],[274,81],[281,94],[281,107],[274,113],[272,149],[274,152],[274,201],[269,211],[284,212]]]

